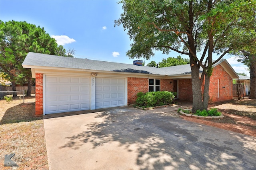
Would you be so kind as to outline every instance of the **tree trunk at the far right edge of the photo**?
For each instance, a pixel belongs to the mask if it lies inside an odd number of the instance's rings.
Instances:
[[[250,59],[250,98],[256,99],[256,55]]]

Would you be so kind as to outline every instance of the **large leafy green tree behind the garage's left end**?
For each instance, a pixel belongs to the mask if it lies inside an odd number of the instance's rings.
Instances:
[[[0,20],[0,67],[8,74],[14,91],[16,82],[23,79],[28,82],[27,96],[30,96],[33,83],[31,69],[22,67],[28,52],[56,55],[56,48],[56,40],[44,28],[26,21]]]

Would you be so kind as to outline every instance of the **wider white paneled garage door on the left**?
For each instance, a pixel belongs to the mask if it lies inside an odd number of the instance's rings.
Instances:
[[[45,76],[45,114],[90,109],[90,78]]]

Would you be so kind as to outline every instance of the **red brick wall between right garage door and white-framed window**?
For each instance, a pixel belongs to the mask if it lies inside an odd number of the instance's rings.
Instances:
[[[148,92],[148,78],[128,77],[127,88],[127,103],[134,104],[138,92]]]

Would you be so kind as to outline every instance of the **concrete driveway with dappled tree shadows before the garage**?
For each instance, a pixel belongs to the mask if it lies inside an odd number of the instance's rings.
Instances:
[[[50,169],[255,170],[255,137],[182,120],[177,109],[118,107],[44,119]]]

